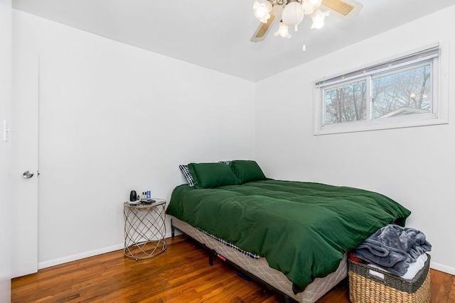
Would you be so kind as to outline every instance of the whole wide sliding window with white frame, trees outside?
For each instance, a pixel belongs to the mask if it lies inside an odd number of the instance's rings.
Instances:
[[[447,123],[440,50],[432,45],[316,82],[314,134]]]

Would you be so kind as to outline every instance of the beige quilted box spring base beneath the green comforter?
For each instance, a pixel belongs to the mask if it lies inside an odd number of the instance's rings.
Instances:
[[[235,270],[239,271],[241,275],[267,287],[267,289],[281,297],[283,302],[316,302],[316,300],[347,277],[348,266],[347,256],[345,255],[335,272],[332,272],[323,278],[316,278],[303,292],[294,294],[292,282],[279,270],[270,268],[265,258],[250,258],[249,256],[240,253],[240,251],[235,250],[235,248],[225,246],[223,243],[198,231],[198,229],[190,224],[173,217],[171,219],[172,237],[174,236],[176,228],[179,231],[186,233],[186,235],[200,243],[204,248],[210,250],[210,265],[213,265],[214,256],[220,258],[220,260],[223,260],[225,263],[228,263],[235,268]]]

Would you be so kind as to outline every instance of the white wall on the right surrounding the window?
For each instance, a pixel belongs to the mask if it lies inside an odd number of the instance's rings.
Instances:
[[[412,211],[407,226],[433,245],[432,266],[455,274],[455,123],[313,136],[316,79],[449,41],[455,96],[455,6],[258,82],[256,158],[269,177],[381,192]],[[311,48],[311,45],[307,45]],[[455,106],[449,106],[453,120]]]

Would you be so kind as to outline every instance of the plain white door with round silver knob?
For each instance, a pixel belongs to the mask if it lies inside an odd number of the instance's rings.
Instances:
[[[11,203],[13,277],[38,271],[38,55],[13,49]]]

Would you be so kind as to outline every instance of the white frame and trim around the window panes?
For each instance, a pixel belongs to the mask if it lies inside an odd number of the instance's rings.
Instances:
[[[422,53],[427,50],[437,48],[438,53],[432,57],[418,58],[415,60],[408,60],[400,63],[400,60],[405,57],[410,57],[417,53]],[[449,64],[447,55],[449,53],[449,45],[446,42],[434,43],[427,45],[418,50],[400,54],[380,62],[375,62],[368,65],[368,67],[361,67],[358,69],[343,72],[338,75],[326,77],[315,82],[314,89],[314,135],[326,135],[332,133],[351,133],[356,131],[373,131],[380,129],[390,128],[405,128],[414,126],[429,126],[437,124],[449,123]],[[398,64],[384,66],[387,62],[398,62]],[[383,77],[387,72],[395,72],[400,67],[411,65],[410,68],[418,67],[419,65],[427,65],[430,62],[432,70],[432,105],[431,111],[428,114],[415,114],[389,117],[384,119],[372,119],[372,94],[370,92],[370,85],[367,85],[367,119],[365,121],[352,121],[344,123],[333,123],[324,125],[325,119],[325,96],[326,89],[333,87],[340,87],[343,84],[353,82],[370,82],[375,77]],[[375,68],[379,67],[379,68]],[[368,70],[370,69],[370,72]],[[346,77],[345,77],[346,76]]]

